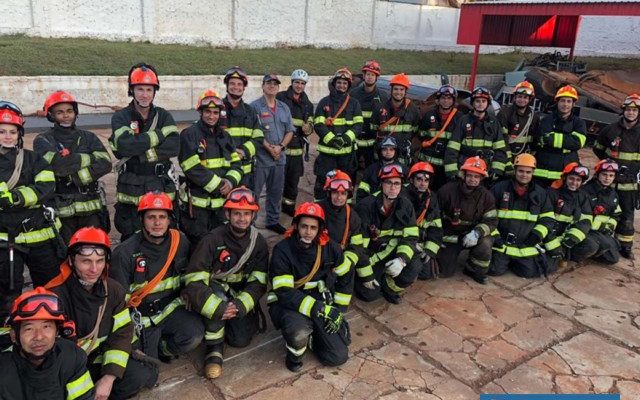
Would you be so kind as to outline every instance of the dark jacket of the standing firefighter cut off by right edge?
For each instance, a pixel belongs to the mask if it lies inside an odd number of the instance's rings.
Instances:
[[[602,128],[593,146],[598,158],[612,158],[621,167],[616,177],[616,190],[638,190],[640,173],[640,123],[631,129],[624,126],[623,118]],[[625,168],[626,167],[626,168]]]

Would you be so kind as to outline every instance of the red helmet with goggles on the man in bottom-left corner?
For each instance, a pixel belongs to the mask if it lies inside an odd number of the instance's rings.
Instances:
[[[43,287],[24,292],[11,307],[10,323],[22,321],[65,321],[58,296]]]

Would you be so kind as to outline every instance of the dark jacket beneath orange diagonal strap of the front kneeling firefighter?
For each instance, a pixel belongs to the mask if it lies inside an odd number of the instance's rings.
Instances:
[[[113,250],[109,276],[125,288],[129,301],[131,294],[147,286],[160,273],[171,247],[171,235],[160,244],[146,240],[141,231],[134,233]],[[180,299],[182,277],[189,262],[189,240],[180,233],[180,243],[173,262],[162,280],[137,307],[145,328],[160,323],[176,308],[183,305]]]

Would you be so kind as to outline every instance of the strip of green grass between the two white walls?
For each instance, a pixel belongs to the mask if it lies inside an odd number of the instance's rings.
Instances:
[[[0,75],[125,75],[130,66],[144,61],[163,75],[218,75],[241,65],[249,74],[275,72],[288,75],[304,68],[311,75],[330,75],[338,67],[358,70],[371,58],[383,73],[466,74],[471,69],[468,53],[406,50],[333,50],[311,47],[269,49],[222,49],[93,39],[44,39],[21,35],[0,36]],[[484,54],[480,73],[511,71],[526,53]],[[529,56],[531,57],[531,56]],[[589,69],[634,69],[637,60],[584,57]]]

